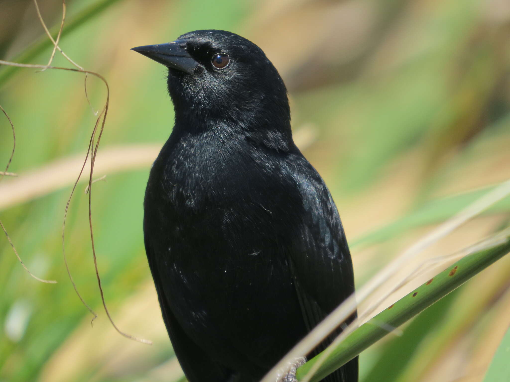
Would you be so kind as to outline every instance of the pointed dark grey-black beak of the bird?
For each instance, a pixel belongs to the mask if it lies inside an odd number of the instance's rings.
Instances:
[[[169,68],[193,74],[198,63],[181,47],[183,40],[176,40],[164,44],[143,45],[131,48],[149,59],[159,62]]]

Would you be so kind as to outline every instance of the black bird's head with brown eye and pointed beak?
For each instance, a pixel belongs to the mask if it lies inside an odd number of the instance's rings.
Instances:
[[[201,30],[132,50],[168,67],[177,119],[181,113],[237,123],[254,116],[259,121],[290,119],[282,78],[262,49],[241,36]]]

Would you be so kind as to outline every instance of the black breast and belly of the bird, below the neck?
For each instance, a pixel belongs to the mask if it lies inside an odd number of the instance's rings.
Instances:
[[[169,304],[197,343],[219,349],[254,331],[261,341],[250,346],[262,354],[285,342],[268,328],[302,330],[292,321],[300,311],[287,253],[301,197],[271,156],[186,146],[160,155],[145,200],[146,241],[157,247]]]

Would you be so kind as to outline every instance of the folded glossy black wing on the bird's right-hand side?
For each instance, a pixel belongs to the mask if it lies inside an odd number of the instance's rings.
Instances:
[[[303,158],[299,164],[301,166],[292,172],[303,201],[304,216],[289,256],[301,312],[310,331],[354,292],[354,275],[335,203],[310,163]],[[354,319],[355,314],[347,323]],[[342,327],[311,355],[322,351],[341,331]],[[324,381],[358,381],[358,359],[353,359]]]

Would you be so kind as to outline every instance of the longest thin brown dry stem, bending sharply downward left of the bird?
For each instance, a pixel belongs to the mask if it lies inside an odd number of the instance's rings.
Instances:
[[[53,41],[53,39],[52,39],[52,41]],[[115,323],[113,322],[113,319],[112,319],[112,317],[110,315],[110,312],[108,311],[108,308],[106,306],[106,301],[105,301],[105,297],[104,297],[104,293],[103,293],[103,288],[101,287],[101,279],[99,277],[99,269],[97,267],[97,258],[96,258],[95,246],[94,246],[94,233],[93,233],[93,227],[92,227],[92,200],[91,200],[91,194],[92,194],[92,176],[93,176],[93,172],[94,172],[95,157],[97,155],[97,149],[99,147],[99,141],[101,139],[101,135],[103,134],[103,131],[104,131],[104,128],[105,128],[106,116],[107,116],[107,113],[108,113],[108,106],[109,106],[109,103],[110,103],[110,87],[108,86],[107,80],[105,79],[105,77],[103,77],[99,73],[92,72],[90,70],[84,70],[84,69],[63,68],[63,67],[58,67],[58,66],[44,66],[44,65],[37,65],[37,64],[19,64],[19,63],[3,61],[3,60],[0,60],[0,64],[17,66],[17,67],[22,67],[22,68],[44,68],[44,67],[47,67],[49,69],[60,69],[60,70],[69,70],[69,71],[74,71],[74,72],[88,73],[88,74],[91,74],[91,75],[99,78],[105,84],[106,90],[107,90],[107,97],[106,97],[105,106],[103,107],[103,110],[101,111],[101,113],[97,117],[96,123],[94,125],[94,129],[92,130],[91,139],[90,139],[90,143],[89,143],[89,149],[87,150],[87,157],[88,157],[89,153],[91,153],[90,174],[89,174],[89,227],[90,227],[90,238],[91,238],[91,242],[92,242],[92,256],[93,256],[93,259],[94,259],[94,268],[95,268],[95,272],[96,272],[97,285],[99,287],[99,292],[100,292],[100,295],[101,295],[101,302],[103,302],[103,307],[105,309],[105,312],[106,312],[106,314],[108,316],[108,319],[110,320],[110,323],[114,327],[114,329],[120,335],[122,335],[123,337],[126,337],[128,339],[131,339],[131,340],[134,340],[134,341],[138,341],[138,342],[141,342],[141,343],[152,344],[151,341],[145,340],[143,338],[137,338],[137,337],[131,336],[131,335],[127,334],[127,333],[124,333],[124,332],[120,331],[117,328],[117,325],[115,325]],[[101,127],[99,129],[99,134],[97,136],[97,141],[94,144],[94,138],[95,138],[95,135],[96,135],[97,128],[98,128],[99,124],[100,124]],[[87,161],[87,157],[85,158],[85,161],[84,161],[84,167],[85,167],[85,163]],[[78,181],[80,179],[80,176],[81,176],[81,174],[83,172],[83,168],[82,168],[82,171],[80,172],[80,175],[78,176],[78,179],[77,179],[75,184],[78,183]],[[73,187],[73,192],[74,192],[74,189],[75,189],[75,186]],[[71,196],[69,197],[69,200],[70,200],[71,197],[72,197],[72,193],[71,193]],[[67,265],[67,262],[66,262],[66,265]],[[69,274],[69,276],[70,276],[70,274]],[[73,282],[73,285],[74,285],[74,282]],[[75,288],[75,290],[77,290],[77,289]],[[83,301],[83,298],[81,296],[80,296],[80,299],[85,304],[85,302]],[[89,309],[89,311],[92,314],[94,314],[94,316],[96,316],[95,313],[93,313],[93,311],[88,307],[87,304],[85,304],[85,306],[87,307],[87,309]]]

